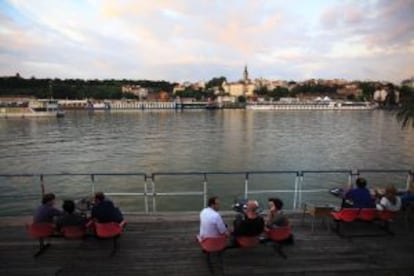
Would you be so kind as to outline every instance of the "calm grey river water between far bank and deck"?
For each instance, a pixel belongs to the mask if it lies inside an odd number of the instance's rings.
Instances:
[[[387,111],[160,110],[67,112],[64,118],[0,120],[0,173],[130,173],[402,169],[414,167],[414,129]],[[405,174],[367,175],[375,186],[405,185]],[[308,187],[346,183],[346,175],[305,177]],[[142,192],[143,177],[97,177],[95,189]],[[202,191],[200,176],[159,177],[157,191]],[[251,177],[252,189],[292,189],[295,177]],[[243,195],[244,175],[209,177],[226,206]],[[0,177],[0,214],[29,212],[39,177]],[[255,187],[256,185],[256,187]],[[49,176],[59,198],[91,192],[90,176]],[[258,195],[264,201],[273,194]],[[292,201],[289,192],[279,194]],[[36,199],[35,199],[36,198]],[[201,196],[161,197],[157,210],[193,210]],[[24,200],[22,200],[24,199]],[[314,198],[313,198],[314,199]],[[321,200],[321,196],[316,197]],[[142,197],[115,197],[142,211]],[[289,207],[287,207],[289,208]]]

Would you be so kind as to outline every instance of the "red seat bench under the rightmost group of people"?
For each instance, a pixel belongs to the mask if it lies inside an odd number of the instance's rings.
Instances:
[[[391,211],[379,211],[375,208],[344,208],[340,211],[331,212],[331,216],[334,220],[333,230],[340,236],[345,236],[341,231],[342,224],[348,224],[353,222],[380,222],[380,228],[385,231],[386,234],[393,235],[394,233],[389,228],[389,223],[395,217],[397,212]],[[352,235],[352,236],[377,236],[375,235]]]

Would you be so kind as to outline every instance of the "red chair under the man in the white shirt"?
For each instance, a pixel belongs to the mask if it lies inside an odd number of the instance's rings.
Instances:
[[[221,235],[214,238],[201,238],[196,236],[197,242],[200,245],[203,253],[207,257],[207,265],[212,274],[214,274],[213,263],[211,262],[211,254],[217,253],[220,263],[220,270],[223,272],[223,252],[227,248],[227,236]]]

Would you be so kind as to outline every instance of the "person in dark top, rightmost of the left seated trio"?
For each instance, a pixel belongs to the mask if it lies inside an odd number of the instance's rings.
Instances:
[[[119,208],[115,207],[111,200],[105,198],[103,192],[97,192],[95,194],[95,203],[92,207],[91,217],[93,220],[100,223],[120,223],[124,220]]]

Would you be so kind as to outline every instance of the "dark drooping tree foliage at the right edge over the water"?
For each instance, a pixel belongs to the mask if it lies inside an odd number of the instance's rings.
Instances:
[[[397,111],[396,117],[402,128],[411,125],[414,128],[414,88],[403,86],[400,92],[401,108]]]

